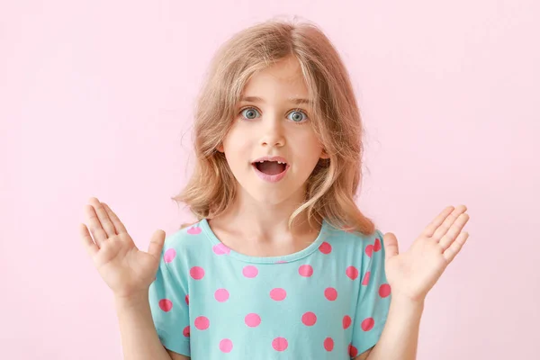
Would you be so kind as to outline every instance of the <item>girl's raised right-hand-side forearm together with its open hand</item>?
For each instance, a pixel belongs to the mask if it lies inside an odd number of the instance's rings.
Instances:
[[[395,235],[384,235],[392,302],[381,338],[367,360],[416,359],[426,295],[469,237],[468,232],[462,232],[469,220],[466,210],[464,205],[446,207],[403,254]]]

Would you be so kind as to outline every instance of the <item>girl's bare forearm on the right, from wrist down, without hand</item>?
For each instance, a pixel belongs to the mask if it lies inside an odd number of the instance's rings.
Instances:
[[[415,360],[422,311],[424,302],[392,298],[381,338],[367,360]]]

